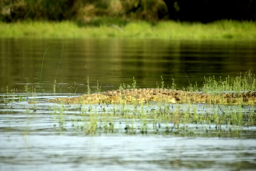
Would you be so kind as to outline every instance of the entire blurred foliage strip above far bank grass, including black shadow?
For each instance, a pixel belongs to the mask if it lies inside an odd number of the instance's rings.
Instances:
[[[256,20],[256,0],[0,0],[0,20],[125,25],[129,20]]]

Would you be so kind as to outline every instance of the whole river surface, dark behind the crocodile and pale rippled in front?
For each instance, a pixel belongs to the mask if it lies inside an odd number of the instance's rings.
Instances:
[[[234,77],[254,68],[255,47],[256,42],[238,41],[0,39],[0,171],[255,170],[256,124],[250,120],[255,105],[190,106],[201,116],[236,115],[234,111],[241,110],[244,123],[218,130],[215,123],[187,122],[190,134],[178,133],[179,128],[166,132],[175,127],[168,119],[155,128],[156,119],[150,116],[157,104],[123,108],[43,102],[86,93],[87,78],[92,92],[97,81],[105,91],[131,85],[133,77],[137,88],[156,87],[161,76],[166,87],[172,78],[177,89],[195,81],[201,87],[204,76]],[[33,88],[26,92],[26,85]],[[28,104],[32,99],[41,103]],[[174,104],[167,113],[175,115],[186,107]],[[144,118],[131,117],[142,111]],[[92,117],[99,128],[94,133],[84,129],[93,123]],[[108,131],[103,129],[105,122]],[[147,133],[142,131],[145,124]],[[136,129],[128,132],[127,125]]]

